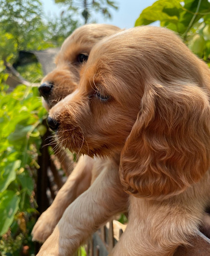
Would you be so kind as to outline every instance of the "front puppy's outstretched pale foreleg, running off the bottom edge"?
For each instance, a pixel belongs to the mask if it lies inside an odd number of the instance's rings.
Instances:
[[[65,210],[37,256],[72,255],[110,217],[127,209],[128,195],[120,183],[119,166],[110,162],[96,181]]]

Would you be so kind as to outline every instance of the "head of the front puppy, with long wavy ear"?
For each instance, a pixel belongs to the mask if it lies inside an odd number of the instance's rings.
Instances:
[[[92,49],[79,88],[52,108],[49,122],[70,150],[121,154],[127,193],[166,199],[209,167],[209,78],[170,30],[130,29]]]

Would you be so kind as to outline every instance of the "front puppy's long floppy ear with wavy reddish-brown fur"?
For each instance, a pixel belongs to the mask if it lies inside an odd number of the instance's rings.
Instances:
[[[190,83],[150,83],[121,153],[125,191],[166,199],[199,181],[209,167],[209,129],[203,89]]]

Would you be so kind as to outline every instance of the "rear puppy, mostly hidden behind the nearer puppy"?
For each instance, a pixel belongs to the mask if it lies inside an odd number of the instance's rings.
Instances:
[[[96,42],[120,30],[112,25],[89,24],[76,29],[72,35],[66,38],[55,60],[56,69],[42,79],[39,87],[46,110],[50,110],[58,101],[78,88],[80,70]],[[63,157],[64,153],[62,152],[60,155]],[[73,172],[58,191],[52,205],[43,212],[36,222],[32,230],[33,241],[44,242],[50,236],[66,207],[94,182],[100,172],[106,168],[106,164],[110,166],[110,161],[99,158],[92,159],[88,156],[80,157]],[[114,164],[113,168],[115,166]],[[120,179],[118,182],[121,187]],[[118,193],[119,188],[115,191],[115,194]],[[127,194],[120,191],[119,200],[117,200],[119,206],[115,207],[117,211],[126,210],[126,198],[128,199]],[[109,218],[114,214],[116,214],[115,209],[113,214],[110,211]]]

